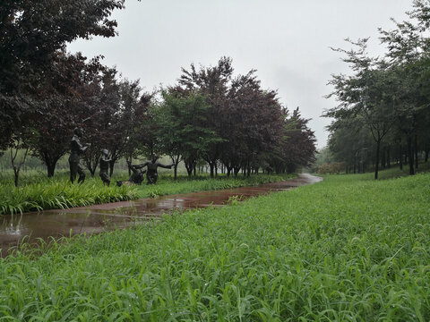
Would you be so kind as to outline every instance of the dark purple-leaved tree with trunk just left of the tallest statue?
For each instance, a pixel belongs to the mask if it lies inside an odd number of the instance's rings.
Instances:
[[[47,176],[55,174],[56,163],[70,148],[73,128],[93,114],[103,66],[99,57],[87,63],[80,54],[57,53],[47,78],[40,82],[37,97],[38,117],[33,120],[34,134],[29,138],[33,156],[47,165]],[[23,124],[23,126],[27,126]]]

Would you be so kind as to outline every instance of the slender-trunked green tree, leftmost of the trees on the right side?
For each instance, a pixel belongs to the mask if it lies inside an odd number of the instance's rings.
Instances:
[[[390,131],[393,111],[397,104],[396,78],[383,61],[375,61],[366,54],[368,38],[348,42],[358,50],[335,49],[347,57],[344,62],[351,64],[353,76],[335,75],[329,82],[334,86],[331,96],[336,96],[340,105],[331,108],[324,116],[336,119],[347,118],[362,122],[371,131],[376,142],[374,179],[378,178],[381,142]]]

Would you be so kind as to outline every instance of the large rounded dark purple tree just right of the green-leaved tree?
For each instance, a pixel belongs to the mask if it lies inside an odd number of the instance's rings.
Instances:
[[[245,168],[250,175],[252,165],[259,164],[265,153],[280,140],[281,106],[277,93],[261,89],[252,70],[232,80],[228,104],[221,113],[221,160],[228,169]]]

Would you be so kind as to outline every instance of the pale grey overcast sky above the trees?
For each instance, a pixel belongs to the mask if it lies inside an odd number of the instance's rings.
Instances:
[[[312,118],[317,147],[327,143],[320,117],[335,106],[323,98],[331,92],[331,74],[348,72],[330,47],[350,46],[345,38],[370,37],[369,51],[383,55],[378,27],[394,28],[390,18],[404,20],[411,0],[127,0],[116,11],[115,38],[93,38],[71,44],[71,52],[104,55],[123,77],[140,79],[151,91],[173,85],[181,67],[215,65],[233,58],[235,74],[257,70],[262,88],[278,90],[289,110],[300,107]]]

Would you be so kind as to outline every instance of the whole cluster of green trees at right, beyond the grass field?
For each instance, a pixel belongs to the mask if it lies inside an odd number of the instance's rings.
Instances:
[[[394,21],[395,28],[380,30],[387,47],[383,57],[366,52],[368,38],[344,55],[351,75],[333,75],[330,81],[338,106],[325,112],[329,148],[347,172],[409,165],[415,174],[418,159],[428,161],[430,150],[430,1],[416,0],[409,21]]]

